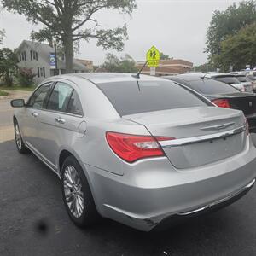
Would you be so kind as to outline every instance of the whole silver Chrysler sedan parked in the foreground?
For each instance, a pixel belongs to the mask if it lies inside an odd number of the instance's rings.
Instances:
[[[243,113],[166,79],[61,75],[11,105],[18,151],[61,178],[79,226],[101,215],[152,230],[227,206],[255,183]]]

